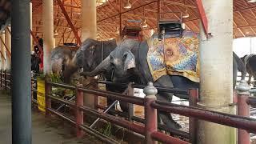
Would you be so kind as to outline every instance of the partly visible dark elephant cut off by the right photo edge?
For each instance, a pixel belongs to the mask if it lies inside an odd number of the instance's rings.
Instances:
[[[245,55],[242,58],[242,62],[246,66],[246,71],[249,74],[248,84],[250,84],[251,78],[256,78],[256,54]],[[254,82],[254,86],[256,83]]]

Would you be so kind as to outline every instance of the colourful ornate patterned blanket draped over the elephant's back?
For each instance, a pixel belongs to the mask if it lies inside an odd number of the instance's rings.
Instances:
[[[148,41],[147,62],[154,81],[163,75],[180,75],[199,82],[199,35],[184,30],[182,38],[158,40],[153,35]]]

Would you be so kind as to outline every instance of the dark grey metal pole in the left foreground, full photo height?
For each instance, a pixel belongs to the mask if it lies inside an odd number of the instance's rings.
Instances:
[[[11,6],[12,143],[31,144],[30,0]]]

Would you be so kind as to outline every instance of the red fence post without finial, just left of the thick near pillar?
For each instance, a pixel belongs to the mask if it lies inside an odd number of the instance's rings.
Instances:
[[[190,89],[189,90],[189,105],[190,106],[197,106],[198,104],[198,89]],[[189,131],[190,131],[190,143],[195,144],[197,143],[197,118],[190,118],[189,122]]]

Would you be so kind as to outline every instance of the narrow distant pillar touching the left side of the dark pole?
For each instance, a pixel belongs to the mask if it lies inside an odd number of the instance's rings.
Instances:
[[[8,26],[9,27],[9,26]],[[9,27],[10,30],[10,27]],[[6,28],[6,34],[5,34],[5,42],[6,42],[6,46],[8,48],[8,50],[10,51],[10,43],[11,43],[11,36],[10,36],[10,32],[9,30],[7,30]],[[6,64],[5,64],[5,68],[6,70],[10,70],[10,55],[8,54],[8,52],[6,51]]]

